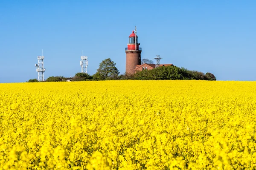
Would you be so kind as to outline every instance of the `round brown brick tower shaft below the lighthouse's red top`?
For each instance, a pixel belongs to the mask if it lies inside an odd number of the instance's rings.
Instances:
[[[125,51],[126,53],[126,74],[134,74],[136,65],[141,65],[141,51],[131,50]]]

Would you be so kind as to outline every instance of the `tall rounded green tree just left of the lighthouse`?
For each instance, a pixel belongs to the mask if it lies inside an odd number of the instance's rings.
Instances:
[[[116,68],[116,63],[114,63],[110,58],[104,59],[97,69],[97,73],[93,77],[98,79],[107,79],[111,77],[117,77],[119,74],[118,69]]]

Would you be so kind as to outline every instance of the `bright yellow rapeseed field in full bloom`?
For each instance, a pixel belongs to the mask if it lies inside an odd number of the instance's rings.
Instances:
[[[0,169],[256,169],[256,82],[0,84]]]

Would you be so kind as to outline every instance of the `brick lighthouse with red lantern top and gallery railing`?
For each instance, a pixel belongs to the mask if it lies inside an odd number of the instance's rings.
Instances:
[[[129,36],[129,43],[127,44],[127,48],[125,48],[126,53],[126,74],[134,74],[136,65],[141,65],[141,48],[140,43],[138,43],[137,29],[135,27],[135,31],[132,31]]]

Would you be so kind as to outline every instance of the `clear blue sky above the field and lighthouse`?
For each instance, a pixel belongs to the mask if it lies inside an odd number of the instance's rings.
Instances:
[[[125,47],[137,26],[142,58],[163,57],[217,80],[256,80],[255,0],[0,0],[0,82],[88,73],[106,58],[125,73]]]

